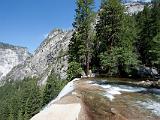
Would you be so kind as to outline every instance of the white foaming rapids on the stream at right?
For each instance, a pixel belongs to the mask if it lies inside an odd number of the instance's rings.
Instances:
[[[101,94],[107,97],[111,102],[116,99],[118,95],[122,95],[121,97],[123,97],[122,93],[135,93],[135,95],[137,95],[137,98],[132,99],[133,101],[130,101],[131,104],[136,105],[142,110],[148,110],[156,116],[160,116],[160,89],[147,89],[143,87],[132,87],[129,85],[119,84],[111,85],[109,84],[109,82],[107,83],[107,81],[105,81],[105,83],[103,84],[103,80],[102,84],[99,84],[98,82],[88,81],[89,84],[103,88],[104,92],[102,92]],[[144,98],[142,96],[144,96]]]

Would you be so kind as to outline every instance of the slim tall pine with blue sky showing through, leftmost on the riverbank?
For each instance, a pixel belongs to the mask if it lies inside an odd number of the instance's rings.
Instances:
[[[77,9],[73,27],[75,32],[69,44],[69,62],[77,62],[86,66],[89,74],[91,60],[91,23],[93,21],[93,0],[77,0]]]

